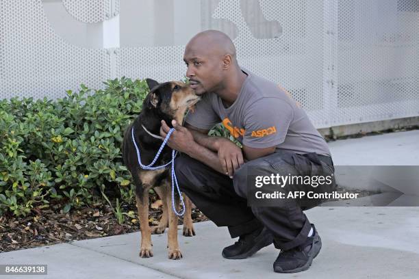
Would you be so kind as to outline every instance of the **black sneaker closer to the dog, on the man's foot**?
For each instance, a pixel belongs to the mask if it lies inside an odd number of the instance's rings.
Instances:
[[[249,258],[257,251],[273,242],[272,235],[266,228],[255,230],[253,233],[240,236],[233,245],[223,249],[223,257],[229,259]]]

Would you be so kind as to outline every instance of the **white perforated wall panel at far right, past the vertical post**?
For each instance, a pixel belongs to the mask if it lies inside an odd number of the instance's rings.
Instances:
[[[332,124],[419,115],[419,1],[340,0]]]

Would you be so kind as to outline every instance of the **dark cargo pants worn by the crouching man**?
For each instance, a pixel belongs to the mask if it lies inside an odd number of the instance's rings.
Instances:
[[[181,191],[217,226],[227,226],[232,238],[265,226],[274,236],[276,248],[288,250],[301,245],[311,228],[303,211],[316,207],[321,201],[286,199],[279,201],[277,207],[248,207],[249,170],[259,175],[327,176],[334,172],[330,157],[316,153],[297,155],[279,149],[271,155],[244,163],[233,179],[187,155],[181,155],[175,162]],[[334,188],[333,178],[333,185],[327,191]]]

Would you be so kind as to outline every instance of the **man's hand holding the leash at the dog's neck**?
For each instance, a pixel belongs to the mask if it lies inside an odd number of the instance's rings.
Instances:
[[[183,152],[189,155],[190,147],[194,144],[194,137],[192,133],[185,127],[179,125],[176,120],[172,120],[172,126],[175,128],[175,131],[170,135],[167,145],[179,152]],[[167,126],[166,122],[162,120],[162,127],[160,127],[160,135],[166,137],[170,128]]]

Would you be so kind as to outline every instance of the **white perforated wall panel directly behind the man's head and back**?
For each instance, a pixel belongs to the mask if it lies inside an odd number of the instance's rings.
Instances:
[[[327,126],[322,0],[205,0],[199,24],[201,30],[229,34],[240,65],[290,90],[318,126]],[[186,72],[183,50],[184,45],[121,49],[119,75],[180,79]]]

